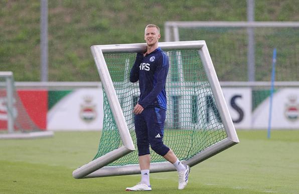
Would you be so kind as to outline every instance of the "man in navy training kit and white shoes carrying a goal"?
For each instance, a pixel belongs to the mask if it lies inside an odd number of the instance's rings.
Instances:
[[[150,145],[159,155],[171,162],[179,173],[179,189],[188,183],[190,167],[183,164],[174,152],[164,145],[164,122],[166,116],[165,83],[169,69],[169,58],[158,46],[160,39],[158,26],[145,27],[145,53],[137,53],[130,71],[130,81],[139,80],[140,96],[133,109],[135,114],[135,133],[137,138],[138,159],[141,181],[126,190],[152,190],[150,184]]]

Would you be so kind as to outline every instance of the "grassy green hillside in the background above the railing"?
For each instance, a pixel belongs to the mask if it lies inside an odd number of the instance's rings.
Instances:
[[[297,0],[255,1],[256,21],[299,21]],[[246,0],[49,1],[49,81],[98,81],[89,47],[143,42],[146,24],[246,21]],[[0,70],[40,80],[40,1],[0,1]]]

